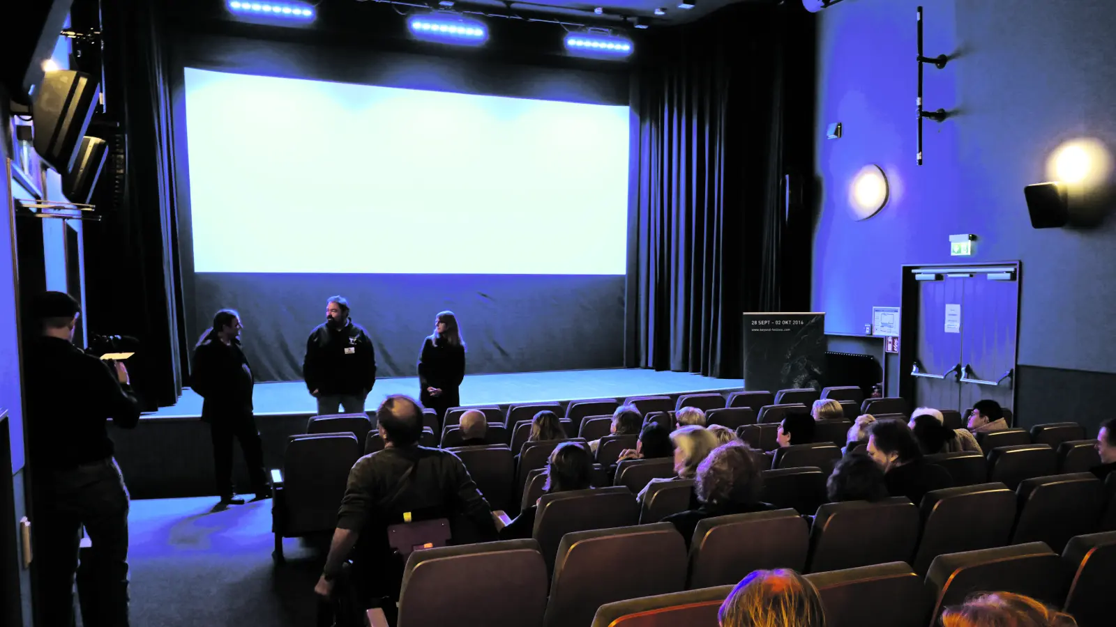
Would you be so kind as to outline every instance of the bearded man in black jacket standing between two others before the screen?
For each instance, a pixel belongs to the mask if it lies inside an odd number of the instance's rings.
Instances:
[[[376,349],[364,327],[349,318],[348,301],[331,296],[326,321],[310,331],[302,361],[306,388],[318,399],[318,414],[364,412],[376,384]]]

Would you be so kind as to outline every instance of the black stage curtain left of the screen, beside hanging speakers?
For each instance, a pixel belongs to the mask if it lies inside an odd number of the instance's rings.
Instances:
[[[87,316],[90,332],[141,340],[129,373],[154,408],[177,402],[186,358],[164,19],[161,2],[102,4],[106,113],[94,128],[117,125],[116,154],[97,189],[104,218],[86,231]]]

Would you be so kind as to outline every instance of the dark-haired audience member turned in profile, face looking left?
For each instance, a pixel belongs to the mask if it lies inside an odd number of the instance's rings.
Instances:
[[[903,421],[873,423],[868,427],[868,455],[884,471],[887,493],[906,496],[916,505],[926,492],[953,485],[945,469],[922,459],[918,441]]]

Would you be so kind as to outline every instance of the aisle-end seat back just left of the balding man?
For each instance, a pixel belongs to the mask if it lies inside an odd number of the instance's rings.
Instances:
[[[348,473],[360,456],[352,433],[292,435],[283,453],[283,532],[336,527]]]

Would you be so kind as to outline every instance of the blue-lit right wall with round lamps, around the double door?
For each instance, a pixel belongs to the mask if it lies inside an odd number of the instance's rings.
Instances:
[[[1062,141],[1116,148],[1116,11],[1105,0],[926,2],[925,165],[915,165],[915,8],[855,0],[819,13],[812,306],[830,331],[857,332],[873,306],[899,305],[899,266],[955,261],[949,235],[979,237],[974,261],[1023,262],[1019,416],[1097,422],[1116,390],[1116,220],[1094,230],[1033,230],[1022,189],[1047,180]],[[840,122],[845,136],[825,139]],[[850,176],[879,164],[888,205],[847,213]],[[1108,417],[1108,416],[1105,416]],[[1095,433],[1095,432],[1094,432]]]

